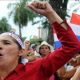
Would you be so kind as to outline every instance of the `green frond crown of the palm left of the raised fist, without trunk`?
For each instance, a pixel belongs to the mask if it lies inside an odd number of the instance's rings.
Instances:
[[[17,24],[21,24],[22,27],[27,25],[28,21],[33,21],[36,15],[32,13],[27,7],[25,7],[27,0],[21,0],[19,4],[17,4],[15,13],[14,13],[14,22]],[[27,2],[28,3],[28,2]]]

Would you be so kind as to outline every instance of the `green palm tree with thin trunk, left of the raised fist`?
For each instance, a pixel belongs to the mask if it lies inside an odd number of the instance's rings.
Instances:
[[[31,0],[19,0],[15,4],[8,5],[8,8],[10,8],[11,5],[14,6],[9,16],[13,14],[14,23],[19,26],[20,37],[22,36],[21,28],[26,26],[28,21],[33,21],[33,19],[37,16],[35,13],[32,13],[32,11],[26,7],[26,3],[29,3],[29,1]]]

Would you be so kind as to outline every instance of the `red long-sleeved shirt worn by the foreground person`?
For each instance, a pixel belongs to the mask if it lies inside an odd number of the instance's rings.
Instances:
[[[65,22],[66,23],[66,22]],[[71,28],[65,30],[57,22],[53,23],[62,47],[48,56],[26,65],[19,64],[5,80],[49,80],[49,77],[63,66],[80,49],[80,44]]]

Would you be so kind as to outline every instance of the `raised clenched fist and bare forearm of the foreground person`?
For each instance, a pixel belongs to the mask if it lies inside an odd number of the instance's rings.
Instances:
[[[51,24],[55,21],[59,24],[63,22],[63,20],[57,15],[57,13],[54,11],[51,5],[46,1],[33,2],[30,5],[28,5],[28,7],[36,13],[46,16]],[[63,24],[62,27],[67,29],[67,26],[65,24]]]

